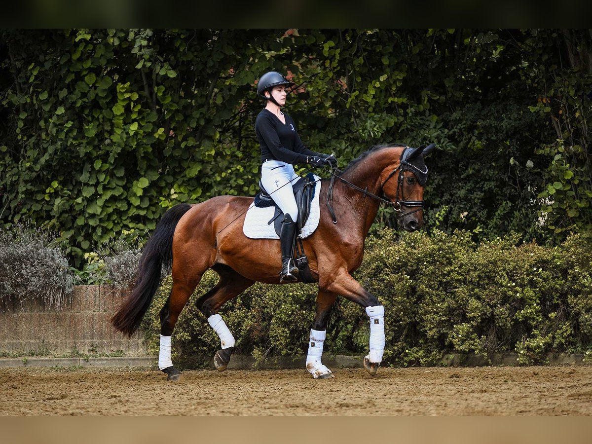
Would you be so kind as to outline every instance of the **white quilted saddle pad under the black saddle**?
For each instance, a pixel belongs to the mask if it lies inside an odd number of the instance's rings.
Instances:
[[[303,239],[314,233],[314,230],[318,227],[318,218],[321,215],[318,204],[318,197],[321,194],[321,180],[316,175],[314,176],[314,180],[317,183],[314,188],[313,201],[310,202],[310,214],[300,235]],[[275,205],[273,207],[259,208],[255,207],[255,204],[251,204],[247,215],[244,217],[244,236],[251,239],[279,239],[278,235],[275,234],[274,223],[272,222],[268,225],[269,220],[274,217],[274,213]]]

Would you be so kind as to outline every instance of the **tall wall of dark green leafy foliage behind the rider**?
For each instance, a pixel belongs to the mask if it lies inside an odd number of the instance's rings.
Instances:
[[[76,266],[178,202],[253,195],[258,76],[289,72],[305,143],[342,165],[433,141],[427,226],[556,244],[592,230],[588,30],[4,30],[0,221]],[[381,220],[392,226],[389,214]]]

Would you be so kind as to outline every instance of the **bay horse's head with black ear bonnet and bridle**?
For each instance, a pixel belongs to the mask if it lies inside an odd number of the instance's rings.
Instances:
[[[382,192],[393,202],[398,213],[398,225],[407,231],[416,231],[423,226],[423,188],[427,181],[427,166],[424,157],[436,145],[406,148],[398,166],[388,173],[382,183]]]

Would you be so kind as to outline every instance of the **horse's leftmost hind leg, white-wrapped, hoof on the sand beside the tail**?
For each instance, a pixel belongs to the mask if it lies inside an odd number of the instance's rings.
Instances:
[[[181,377],[170,359],[171,338],[175,324],[181,314],[181,310],[189,300],[195,287],[200,283],[201,276],[196,276],[189,282],[173,282],[169,298],[160,310],[160,350],[158,355],[158,368],[166,373],[168,381],[178,381]]]

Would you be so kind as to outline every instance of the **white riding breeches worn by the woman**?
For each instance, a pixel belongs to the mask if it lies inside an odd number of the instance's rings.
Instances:
[[[298,207],[294,199],[292,184],[300,176],[294,172],[294,167],[281,160],[268,160],[261,167],[261,182],[284,215],[290,215],[293,221],[298,218]]]

